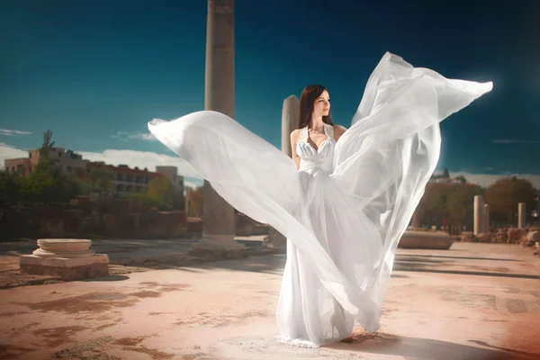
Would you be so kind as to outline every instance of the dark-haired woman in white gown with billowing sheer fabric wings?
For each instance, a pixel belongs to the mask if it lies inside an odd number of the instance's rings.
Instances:
[[[280,341],[350,341],[379,328],[398,242],[439,157],[439,122],[491,91],[386,53],[350,127],[329,91],[304,89],[293,161],[220,112],[154,120],[149,130],[227,202],[287,238],[276,311]]]

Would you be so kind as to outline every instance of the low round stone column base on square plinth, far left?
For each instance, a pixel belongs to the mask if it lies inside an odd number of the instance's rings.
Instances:
[[[78,238],[41,238],[38,249],[19,257],[22,273],[59,276],[79,280],[109,275],[109,257],[90,249],[92,240]]]

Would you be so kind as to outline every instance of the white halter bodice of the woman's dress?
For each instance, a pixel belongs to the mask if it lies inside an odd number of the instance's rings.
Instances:
[[[327,139],[320,143],[319,148],[314,148],[308,141],[308,127],[302,128],[300,139],[298,139],[298,143],[296,144],[296,153],[301,159],[298,171],[321,169],[326,172],[331,172],[334,148],[336,146],[334,128],[332,125],[325,123],[324,132]]]

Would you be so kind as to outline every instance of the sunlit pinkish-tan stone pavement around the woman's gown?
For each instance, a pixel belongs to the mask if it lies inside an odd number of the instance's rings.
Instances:
[[[515,245],[398,251],[381,329],[276,343],[284,256],[0,290],[0,359],[540,358],[540,261]]]

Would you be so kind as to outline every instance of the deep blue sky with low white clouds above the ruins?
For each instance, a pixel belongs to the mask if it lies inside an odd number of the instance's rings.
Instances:
[[[91,159],[184,168],[148,137],[147,122],[203,108],[206,1],[111,3],[0,4],[0,157],[39,147],[50,129],[58,146]],[[494,82],[442,122],[439,169],[537,181],[539,2],[381,3],[237,0],[237,120],[280,147],[284,98],[318,83],[348,126],[391,51],[446,77]]]

